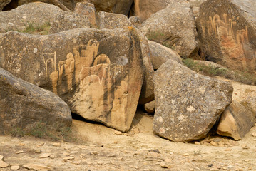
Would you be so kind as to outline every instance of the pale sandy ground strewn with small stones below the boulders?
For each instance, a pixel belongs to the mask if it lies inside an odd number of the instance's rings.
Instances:
[[[242,141],[218,137],[204,140],[205,145],[195,145],[153,135],[152,122],[153,116],[138,111],[133,128],[120,133],[103,125],[73,120],[73,131],[83,140],[79,144],[0,136],[0,155],[9,164],[0,170],[11,170],[14,165],[19,165],[19,170],[29,170],[24,167],[29,163],[59,171],[256,170],[256,138],[252,136],[256,127]]]

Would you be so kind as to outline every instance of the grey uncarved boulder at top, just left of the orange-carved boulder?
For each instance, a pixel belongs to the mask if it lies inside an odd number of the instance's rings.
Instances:
[[[171,1],[144,21],[140,30],[148,40],[173,48],[182,57],[192,57],[198,51],[195,19],[186,0]]]

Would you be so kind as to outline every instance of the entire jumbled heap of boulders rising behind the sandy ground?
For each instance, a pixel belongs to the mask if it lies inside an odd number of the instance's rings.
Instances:
[[[65,140],[75,116],[130,133],[138,108],[172,142],[242,140],[255,126],[256,1],[4,0],[0,11],[1,135]]]

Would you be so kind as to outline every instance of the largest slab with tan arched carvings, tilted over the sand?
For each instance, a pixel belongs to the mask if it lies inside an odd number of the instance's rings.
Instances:
[[[143,81],[133,28],[73,29],[48,36],[0,35],[0,66],[53,91],[71,111],[121,131],[130,128]]]

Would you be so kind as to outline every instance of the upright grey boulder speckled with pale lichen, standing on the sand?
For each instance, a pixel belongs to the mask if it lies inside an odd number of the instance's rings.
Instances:
[[[205,138],[232,101],[232,85],[169,60],[155,71],[155,134],[174,142]]]

